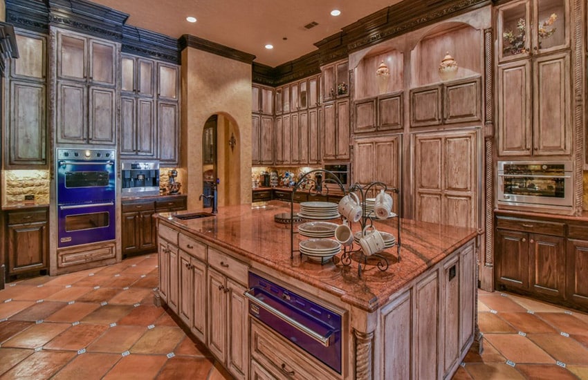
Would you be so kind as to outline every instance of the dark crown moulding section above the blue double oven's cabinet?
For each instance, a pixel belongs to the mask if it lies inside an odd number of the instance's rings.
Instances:
[[[48,0],[49,25],[84,32],[94,37],[122,40],[124,12],[85,0]]]

